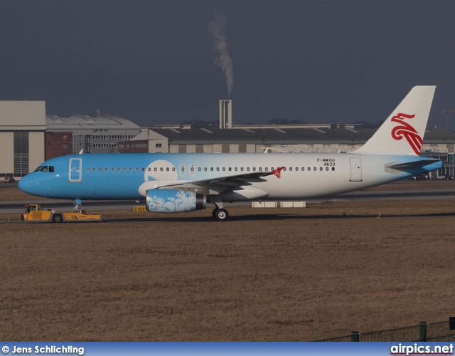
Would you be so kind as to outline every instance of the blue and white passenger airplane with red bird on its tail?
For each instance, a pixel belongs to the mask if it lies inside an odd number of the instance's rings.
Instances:
[[[82,200],[141,200],[146,210],[179,213],[225,202],[311,199],[395,182],[442,167],[419,157],[435,86],[410,90],[373,137],[339,153],[75,154],[43,162],[23,177],[28,194]]]

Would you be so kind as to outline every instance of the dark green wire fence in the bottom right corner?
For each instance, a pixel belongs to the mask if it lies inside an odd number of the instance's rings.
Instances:
[[[427,323],[422,321],[419,325],[406,328],[396,328],[389,330],[372,331],[369,333],[359,333],[353,331],[350,335],[332,337],[330,339],[315,341],[454,341],[455,340],[455,317],[450,317],[449,321],[438,323]]]

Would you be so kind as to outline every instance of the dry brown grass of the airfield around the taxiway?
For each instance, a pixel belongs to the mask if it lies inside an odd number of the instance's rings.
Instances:
[[[376,191],[406,189],[455,182]],[[7,186],[5,199],[33,198]],[[0,214],[0,340],[306,341],[455,315],[451,194],[233,206],[225,222],[100,212],[82,224]]]

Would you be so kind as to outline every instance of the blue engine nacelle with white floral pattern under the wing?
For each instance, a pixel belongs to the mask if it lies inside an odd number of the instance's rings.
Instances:
[[[149,189],[145,197],[151,213],[184,213],[205,209],[206,204],[205,195],[178,189]]]

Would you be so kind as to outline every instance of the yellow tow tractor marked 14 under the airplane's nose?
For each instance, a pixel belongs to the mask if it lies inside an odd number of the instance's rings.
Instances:
[[[77,221],[77,220],[102,220],[101,215],[85,214],[85,210],[77,210],[75,212],[57,212],[55,210],[44,210],[40,204],[26,204],[26,209],[21,214],[21,220],[25,221]]]

